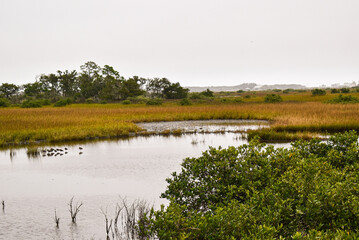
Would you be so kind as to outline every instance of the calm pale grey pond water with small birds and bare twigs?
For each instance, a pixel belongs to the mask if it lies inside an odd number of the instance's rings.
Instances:
[[[234,126],[229,125],[231,129]],[[228,124],[217,124],[220,129],[225,126]],[[243,124],[240,128],[243,130]],[[121,198],[128,202],[144,199],[158,208],[167,203],[159,198],[166,189],[165,179],[180,171],[184,158],[198,157],[209,146],[244,143],[241,134],[226,132],[44,148],[61,148],[58,155],[48,151],[27,154],[26,148],[1,151],[0,200],[4,200],[5,210],[0,210],[0,239],[106,239],[101,209],[113,215]],[[73,196],[75,202],[83,203],[77,224],[71,223],[68,211]],[[55,209],[59,228],[55,227]]]

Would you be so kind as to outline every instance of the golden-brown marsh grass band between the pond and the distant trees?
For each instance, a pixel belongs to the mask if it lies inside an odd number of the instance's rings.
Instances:
[[[62,108],[0,109],[0,145],[59,142],[138,134],[136,122],[265,119],[277,133],[359,130],[359,105],[321,102],[162,106],[74,104]],[[295,134],[294,134],[295,135]],[[291,137],[291,139],[295,137]],[[285,140],[285,139],[283,139]]]

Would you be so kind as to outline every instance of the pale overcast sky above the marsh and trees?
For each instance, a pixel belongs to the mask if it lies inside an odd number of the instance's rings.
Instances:
[[[358,0],[0,0],[0,83],[80,70],[182,86],[359,82]]]

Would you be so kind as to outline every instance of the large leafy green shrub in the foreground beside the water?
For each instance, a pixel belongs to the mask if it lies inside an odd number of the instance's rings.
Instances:
[[[159,239],[358,239],[356,132],[186,158],[145,221]]]

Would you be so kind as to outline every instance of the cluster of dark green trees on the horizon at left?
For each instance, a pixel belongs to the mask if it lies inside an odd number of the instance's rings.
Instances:
[[[80,69],[80,72],[58,70],[56,73],[42,74],[34,83],[24,85],[3,83],[0,86],[0,97],[12,103],[29,99],[115,102],[138,96],[182,99],[189,92],[178,82],[171,83],[167,78],[133,76],[126,79],[113,67],[100,67],[91,61],[83,64]]]

